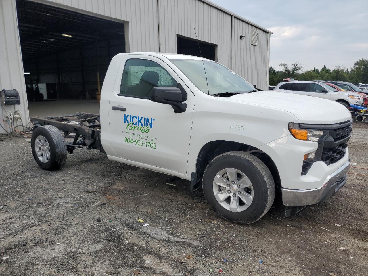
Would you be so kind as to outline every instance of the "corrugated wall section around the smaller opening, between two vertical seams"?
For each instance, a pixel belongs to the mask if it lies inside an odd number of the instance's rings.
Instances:
[[[198,0],[159,0],[161,52],[177,53],[177,35],[217,47],[217,61],[230,67],[231,15]]]

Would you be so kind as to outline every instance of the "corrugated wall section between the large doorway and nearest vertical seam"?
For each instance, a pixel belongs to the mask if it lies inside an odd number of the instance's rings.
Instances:
[[[155,0],[43,0],[44,4],[71,7],[128,21],[130,52],[159,52],[157,1]],[[53,3],[50,3],[53,2]],[[93,14],[92,14],[93,15]]]

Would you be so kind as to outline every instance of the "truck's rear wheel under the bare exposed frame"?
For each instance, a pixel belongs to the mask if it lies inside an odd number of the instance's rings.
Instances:
[[[67,160],[67,146],[60,131],[53,125],[36,127],[32,134],[33,158],[44,170],[57,170]]]

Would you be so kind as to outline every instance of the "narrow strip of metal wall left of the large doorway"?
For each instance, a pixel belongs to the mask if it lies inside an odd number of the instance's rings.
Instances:
[[[23,113],[23,122],[29,122],[28,103],[23,74],[23,64],[18,34],[17,13],[14,0],[0,1],[0,90],[17,89],[20,93],[21,104],[15,105],[16,110]],[[14,112],[14,106],[7,106],[7,110]],[[0,105],[0,123],[3,122],[3,111]],[[5,127],[8,130],[8,127]],[[0,128],[0,133],[3,133]]]

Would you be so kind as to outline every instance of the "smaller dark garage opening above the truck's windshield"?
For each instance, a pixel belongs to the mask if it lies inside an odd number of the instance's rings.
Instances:
[[[178,54],[200,57],[198,43],[203,58],[217,61],[217,45],[202,41],[197,42],[197,40],[184,38],[183,36],[177,36],[177,52]]]

